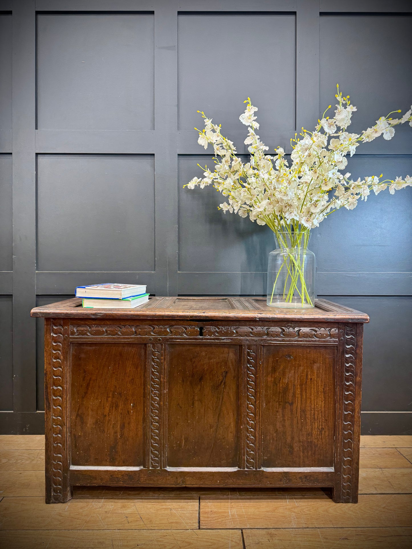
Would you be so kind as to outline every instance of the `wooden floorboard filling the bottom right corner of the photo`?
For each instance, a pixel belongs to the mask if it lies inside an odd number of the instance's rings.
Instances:
[[[410,549],[412,528],[243,530],[246,549]]]

